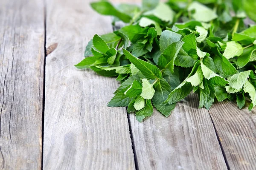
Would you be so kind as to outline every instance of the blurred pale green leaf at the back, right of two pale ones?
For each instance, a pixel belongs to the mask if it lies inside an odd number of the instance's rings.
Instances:
[[[207,6],[204,6],[196,1],[192,2],[188,8],[188,11],[193,10],[195,10],[195,13],[192,14],[192,17],[197,21],[209,22],[218,17],[215,11],[213,11],[211,8],[208,8]]]

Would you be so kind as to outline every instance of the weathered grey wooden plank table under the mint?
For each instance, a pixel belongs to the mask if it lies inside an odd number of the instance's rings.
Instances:
[[[73,66],[112,31],[89,1],[0,0],[0,169],[255,170],[256,110],[189,95],[139,123],[106,107],[118,82]]]

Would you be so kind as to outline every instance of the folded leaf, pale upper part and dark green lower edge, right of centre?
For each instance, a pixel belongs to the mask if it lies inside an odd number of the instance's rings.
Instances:
[[[202,69],[204,78],[210,80],[212,84],[224,86],[228,83],[223,77],[219,76],[218,74],[214,73],[212,70],[207,68],[207,66],[204,65],[202,61],[201,61],[201,69]]]

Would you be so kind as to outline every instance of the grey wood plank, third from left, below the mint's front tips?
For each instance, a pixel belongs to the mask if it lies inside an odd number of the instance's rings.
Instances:
[[[154,111],[139,123],[130,115],[140,170],[225,170],[227,166],[209,113],[190,94],[169,118]]]

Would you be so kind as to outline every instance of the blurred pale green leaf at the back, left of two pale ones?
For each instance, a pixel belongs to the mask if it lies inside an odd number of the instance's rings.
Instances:
[[[159,3],[156,8],[151,11],[145,12],[144,15],[154,15],[155,17],[159,18],[165,22],[173,22],[175,12],[165,3]]]

